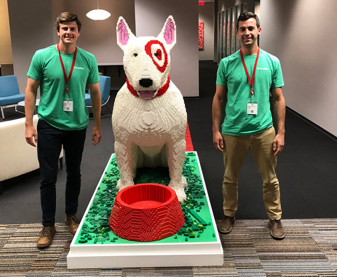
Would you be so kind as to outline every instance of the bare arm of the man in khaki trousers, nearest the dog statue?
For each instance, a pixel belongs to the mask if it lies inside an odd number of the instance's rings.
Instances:
[[[222,152],[223,148],[223,140],[221,133],[219,131],[220,128],[220,120],[222,117],[222,110],[223,105],[225,102],[227,92],[227,86],[220,86],[216,85],[216,91],[213,98],[213,104],[212,104],[212,117],[213,117],[213,144],[215,149]]]

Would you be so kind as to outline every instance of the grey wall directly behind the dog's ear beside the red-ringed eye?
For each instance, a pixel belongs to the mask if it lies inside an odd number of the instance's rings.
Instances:
[[[177,43],[171,50],[171,80],[183,96],[199,95],[198,1],[135,0],[136,36],[157,36],[172,15]]]

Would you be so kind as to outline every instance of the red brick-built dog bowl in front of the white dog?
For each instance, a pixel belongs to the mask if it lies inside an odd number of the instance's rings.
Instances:
[[[109,226],[129,241],[149,242],[170,237],[185,222],[173,189],[159,184],[138,184],[117,193]]]

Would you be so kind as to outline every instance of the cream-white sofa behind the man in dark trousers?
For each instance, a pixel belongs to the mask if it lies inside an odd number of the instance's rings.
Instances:
[[[37,115],[33,116],[36,128]],[[0,195],[2,181],[22,175],[39,168],[36,147],[25,139],[25,118],[0,122]],[[62,169],[63,149],[60,153]]]

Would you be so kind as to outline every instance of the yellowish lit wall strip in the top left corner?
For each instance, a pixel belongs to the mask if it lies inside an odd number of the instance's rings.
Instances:
[[[12,63],[7,0],[0,0],[0,63]]]

